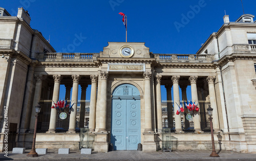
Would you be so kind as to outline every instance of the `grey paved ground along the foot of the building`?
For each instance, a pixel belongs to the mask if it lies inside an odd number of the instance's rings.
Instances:
[[[70,154],[58,154],[58,149],[49,150],[47,154],[38,157],[27,157],[25,154],[0,153],[0,160],[256,160],[256,154],[237,153],[222,150],[219,158],[209,157],[211,150],[175,150],[173,152],[142,152],[142,151],[111,151],[108,153],[92,152],[80,154],[79,150],[71,150]]]

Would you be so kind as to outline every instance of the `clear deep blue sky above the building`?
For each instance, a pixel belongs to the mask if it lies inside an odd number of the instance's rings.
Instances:
[[[256,1],[243,0],[243,5],[246,14],[256,14]],[[70,53],[99,53],[108,41],[125,41],[119,12],[127,15],[127,41],[145,42],[161,54],[195,54],[223,25],[225,11],[230,21],[243,14],[241,0],[2,0],[0,7],[13,16],[24,7],[31,27],[46,39],[50,35],[57,52]],[[72,45],[77,36],[81,43]]]

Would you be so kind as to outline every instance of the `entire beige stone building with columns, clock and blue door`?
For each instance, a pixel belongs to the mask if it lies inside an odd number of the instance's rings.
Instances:
[[[216,148],[256,152],[253,15],[235,22],[225,15],[219,31],[196,54],[155,54],[142,42],[109,42],[99,53],[56,53],[30,27],[23,8],[17,16],[0,11],[2,149],[7,129],[9,147],[31,148],[37,103],[36,148],[78,149],[87,138],[95,151],[108,151],[110,143],[114,150],[136,150],[141,143],[143,151],[156,151],[168,129],[172,149],[211,149],[206,110],[211,105]],[[66,86],[65,99],[74,103],[66,120],[51,108],[60,99],[60,84]],[[85,101],[88,85],[90,102]],[[166,101],[161,100],[161,85]],[[187,100],[187,86],[200,110],[177,115]],[[188,114],[192,120],[186,119]],[[84,127],[89,131],[81,135]]]

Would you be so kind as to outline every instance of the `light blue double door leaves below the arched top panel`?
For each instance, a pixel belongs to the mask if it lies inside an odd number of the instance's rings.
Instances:
[[[114,150],[137,150],[140,143],[140,100],[112,100],[111,143]]]

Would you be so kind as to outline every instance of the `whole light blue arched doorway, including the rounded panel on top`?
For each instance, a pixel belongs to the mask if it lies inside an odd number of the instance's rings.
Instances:
[[[121,84],[112,94],[111,143],[114,150],[137,150],[140,143],[140,93]]]

